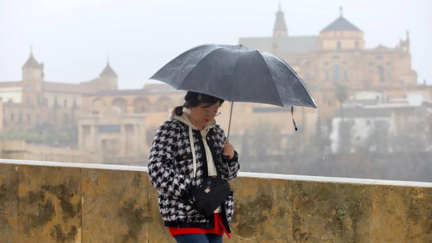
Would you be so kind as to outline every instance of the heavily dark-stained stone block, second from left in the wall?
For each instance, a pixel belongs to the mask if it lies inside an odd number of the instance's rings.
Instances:
[[[81,243],[80,172],[18,165],[20,242]]]

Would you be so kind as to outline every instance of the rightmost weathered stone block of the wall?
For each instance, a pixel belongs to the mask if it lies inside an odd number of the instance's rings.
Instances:
[[[373,242],[432,242],[432,188],[372,187]]]

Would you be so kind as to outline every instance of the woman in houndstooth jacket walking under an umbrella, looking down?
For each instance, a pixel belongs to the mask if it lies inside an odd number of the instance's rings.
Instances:
[[[185,101],[153,139],[149,177],[158,189],[162,219],[177,243],[221,243],[224,232],[230,237],[232,192],[209,218],[189,202],[192,189],[208,176],[234,179],[240,168],[239,155],[216,124],[224,100],[189,91]]]

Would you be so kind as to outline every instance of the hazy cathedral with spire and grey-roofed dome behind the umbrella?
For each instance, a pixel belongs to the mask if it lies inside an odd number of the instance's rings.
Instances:
[[[294,36],[279,6],[272,36],[242,37],[239,44],[273,53],[290,64],[311,90],[326,121],[340,105],[335,95],[339,85],[347,89],[348,97],[370,90],[400,98],[419,89],[411,68],[408,31],[395,47],[367,49],[363,31],[343,16],[342,8],[340,16],[318,35]]]

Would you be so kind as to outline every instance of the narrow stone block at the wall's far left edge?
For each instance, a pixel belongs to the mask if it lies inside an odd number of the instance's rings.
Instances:
[[[0,242],[18,242],[18,172],[0,163]]]

